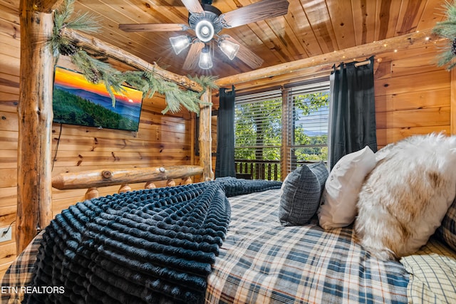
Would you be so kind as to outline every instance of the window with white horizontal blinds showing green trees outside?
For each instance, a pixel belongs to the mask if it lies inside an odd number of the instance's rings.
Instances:
[[[326,161],[328,97],[328,79],[237,94],[237,173],[280,180],[300,164]]]

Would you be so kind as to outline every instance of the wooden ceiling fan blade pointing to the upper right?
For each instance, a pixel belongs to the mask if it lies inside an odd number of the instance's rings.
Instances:
[[[220,16],[225,28],[234,28],[244,24],[283,16],[288,13],[289,3],[286,0],[262,0],[239,9],[234,9]]]

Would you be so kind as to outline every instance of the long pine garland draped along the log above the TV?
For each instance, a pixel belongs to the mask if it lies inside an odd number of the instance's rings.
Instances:
[[[123,83],[141,90],[148,98],[152,98],[156,92],[165,95],[167,106],[165,110],[162,110],[163,114],[168,111],[179,112],[181,105],[190,112],[199,114],[199,105],[212,105],[212,103],[202,103],[199,98],[207,88],[217,88],[217,85],[214,84],[215,78],[208,76],[190,78],[199,85],[202,85],[202,93],[193,92],[192,90],[181,90],[176,83],[165,80],[160,75],[154,73],[153,69],[120,72],[109,63],[93,58],[86,51],[75,46],[68,38],[61,35],[63,28],[66,27],[95,33],[99,30],[100,26],[98,26],[98,20],[89,14],[81,14],[76,19],[71,20],[73,4],[74,0],[63,1],[62,8],[56,10],[54,14],[53,35],[49,40],[53,49],[53,55],[56,58],[59,55],[71,56],[71,61],[78,67],[78,70],[83,73],[88,81],[91,83],[103,81],[106,90],[110,94],[113,107],[115,107],[114,93],[123,92]]]

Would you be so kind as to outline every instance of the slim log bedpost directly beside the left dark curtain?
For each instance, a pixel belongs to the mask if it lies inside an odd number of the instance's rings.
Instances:
[[[201,96],[202,105],[199,110],[199,164],[202,166],[202,180],[203,182],[214,179],[214,172],[212,172],[212,135],[211,135],[211,117],[212,106],[204,105],[204,103],[212,102],[211,90],[206,89]]]

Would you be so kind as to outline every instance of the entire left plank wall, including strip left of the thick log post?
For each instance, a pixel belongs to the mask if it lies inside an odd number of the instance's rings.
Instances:
[[[19,100],[20,31],[17,9],[0,1],[0,228],[16,219],[17,137]],[[162,115],[165,99],[155,95],[142,103],[138,132],[98,130],[93,127],[53,125],[53,174],[89,169],[167,167],[193,164],[192,140],[195,136],[192,115],[187,110]],[[183,184],[182,179],[175,180]],[[164,187],[165,182],[156,182]],[[131,184],[141,189],[144,184]],[[118,192],[119,187],[100,188],[100,195]],[[53,190],[53,214],[77,201],[86,189]],[[16,257],[16,243],[0,243],[0,278]]]

